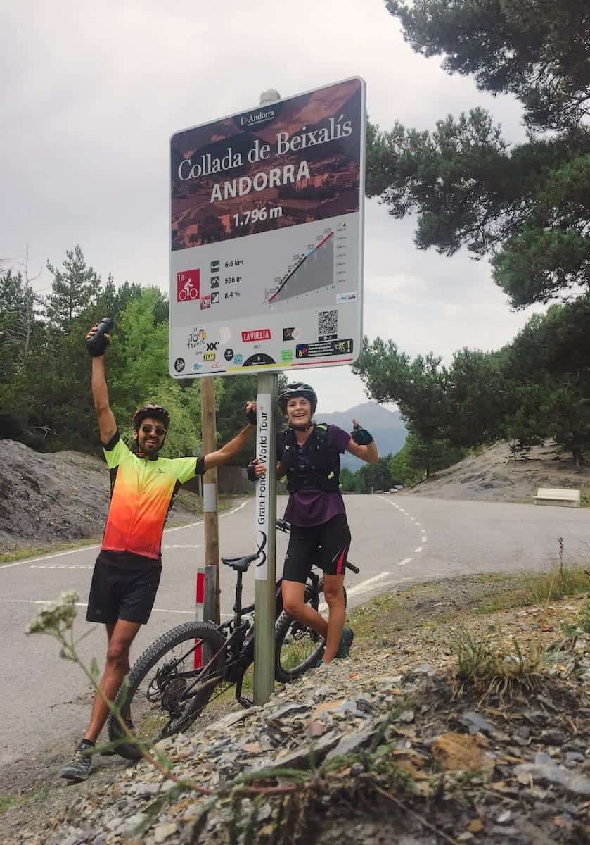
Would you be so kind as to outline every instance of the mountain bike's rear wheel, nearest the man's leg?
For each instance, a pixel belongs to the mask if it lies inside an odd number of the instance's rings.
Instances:
[[[202,665],[212,657],[206,675],[194,667],[195,646],[202,644]],[[187,728],[198,717],[223,679],[225,639],[208,622],[187,622],[160,636],[133,664],[128,684],[119,690],[115,704],[122,717],[131,717],[135,735],[145,744],[158,742]],[[200,677],[203,675],[203,677]],[[198,679],[186,701],[181,699],[189,684]],[[109,717],[109,739],[116,753],[138,760],[137,745],[122,742],[125,734],[117,719]]]

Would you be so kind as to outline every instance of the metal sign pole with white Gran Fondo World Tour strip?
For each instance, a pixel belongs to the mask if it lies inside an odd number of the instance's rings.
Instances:
[[[279,91],[269,89],[260,95],[260,105],[280,100]],[[277,374],[258,373],[256,454],[266,464],[266,474],[257,483],[256,539],[262,548],[254,586],[254,704],[266,704],[274,687],[274,607],[277,545],[276,474]]]

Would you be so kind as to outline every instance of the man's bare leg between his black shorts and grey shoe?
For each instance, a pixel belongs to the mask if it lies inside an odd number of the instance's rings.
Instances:
[[[116,624],[106,626],[109,646],[106,651],[105,672],[100,679],[99,691],[95,695],[88,729],[84,733],[84,739],[90,742],[96,742],[109,717],[110,711],[102,695],[113,701],[123,678],[129,672],[129,650],[140,627],[137,622],[127,622],[127,619],[117,619]]]

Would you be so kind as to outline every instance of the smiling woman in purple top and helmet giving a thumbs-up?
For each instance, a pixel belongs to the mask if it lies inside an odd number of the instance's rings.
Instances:
[[[371,434],[353,420],[349,434],[335,425],[316,424],[317,395],[311,385],[287,384],[279,393],[279,406],[289,427],[277,439],[277,472],[287,477],[289,502],[284,519],[291,524],[289,548],[284,559],[283,606],[301,624],[326,641],[323,663],[348,657],[353,631],[344,628],[344,564],[350,545],[344,500],[339,489],[339,455],[350,452],[370,464],[379,458]],[[260,474],[257,461],[250,477]],[[306,581],[312,561],[324,571],[327,621],[305,602]]]

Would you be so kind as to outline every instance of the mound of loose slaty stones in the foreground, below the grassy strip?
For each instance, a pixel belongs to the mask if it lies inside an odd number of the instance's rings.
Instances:
[[[571,679],[581,659],[573,643],[562,652],[566,678],[539,676],[484,703],[481,690],[457,697],[452,676],[430,667],[386,675],[381,657],[369,649],[362,662],[334,661],[319,687],[311,671],[266,706],[196,722],[162,744],[174,777],[162,782],[141,760],[98,796],[70,787],[51,824],[11,842],[225,843],[230,829],[244,845],[436,845],[436,831],[486,845],[587,841],[590,690]],[[306,787],[285,770],[306,772]],[[211,796],[187,781],[219,790],[206,815]],[[293,793],[255,802],[252,783]]]

